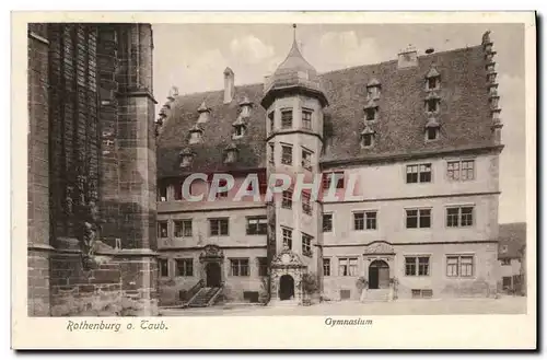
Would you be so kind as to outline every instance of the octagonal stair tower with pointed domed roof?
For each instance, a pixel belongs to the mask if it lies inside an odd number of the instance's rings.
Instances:
[[[265,82],[267,173],[286,174],[291,186],[268,202],[268,259],[271,302],[303,299],[303,277],[319,281],[323,111],[328,105],[317,71],[296,44]],[[296,184],[300,182],[301,184]],[[304,184],[302,186],[302,184]],[[314,184],[313,189],[312,184]]]

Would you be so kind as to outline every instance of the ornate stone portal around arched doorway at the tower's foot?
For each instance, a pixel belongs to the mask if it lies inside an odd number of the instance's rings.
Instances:
[[[271,302],[282,300],[302,301],[302,275],[305,272],[306,266],[300,256],[286,247],[271,262]],[[292,289],[291,289],[292,287]],[[289,299],[286,299],[287,292]]]

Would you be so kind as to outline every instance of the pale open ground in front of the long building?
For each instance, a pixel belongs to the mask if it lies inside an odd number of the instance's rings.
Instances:
[[[526,298],[453,300],[397,300],[391,303],[333,302],[312,306],[226,305],[206,309],[163,310],[163,316],[267,316],[267,315],[450,315],[524,314]]]

